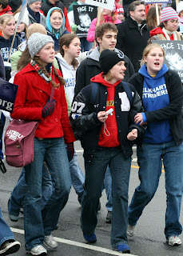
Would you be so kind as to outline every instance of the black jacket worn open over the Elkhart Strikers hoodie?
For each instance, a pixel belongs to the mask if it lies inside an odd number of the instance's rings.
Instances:
[[[142,91],[144,85],[143,75],[137,73],[129,79],[137,93],[142,98]],[[159,110],[145,111],[148,122],[161,122],[169,120],[172,129],[173,138],[177,144],[183,142],[183,87],[181,79],[175,71],[168,70],[165,73],[165,85],[169,94],[169,106],[165,106]]]

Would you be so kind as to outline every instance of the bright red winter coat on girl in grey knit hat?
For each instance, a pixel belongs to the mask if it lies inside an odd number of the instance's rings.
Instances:
[[[58,74],[62,76],[60,70]],[[55,78],[55,82],[59,83],[58,78]],[[18,85],[18,94],[14,103],[14,111],[11,114],[12,118],[40,121],[35,137],[60,138],[64,136],[66,143],[75,141],[67,112],[64,86],[54,90],[54,100],[57,102],[54,112],[42,118],[42,107],[50,98],[51,83],[47,83],[34,67],[28,64],[15,75],[14,84]]]

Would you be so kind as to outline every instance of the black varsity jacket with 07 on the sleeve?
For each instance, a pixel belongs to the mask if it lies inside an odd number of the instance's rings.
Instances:
[[[91,102],[92,86],[86,86],[74,99],[70,114],[71,126],[74,130],[75,138],[81,139],[82,147],[85,150],[84,155],[90,154],[97,148],[101,126],[103,124],[97,119],[97,113],[105,110],[108,92],[106,86],[101,83],[98,83],[98,85],[95,102]],[[137,94],[137,90],[129,83],[128,86],[133,95],[133,102],[130,105],[129,111],[121,111],[119,93],[125,91],[122,82],[115,87],[114,96],[117,130],[125,158],[129,158],[133,153],[132,145],[134,142],[130,142],[127,139],[129,131],[137,128],[138,136],[144,132],[144,127],[137,126],[133,122],[135,114],[143,111],[141,100]]]

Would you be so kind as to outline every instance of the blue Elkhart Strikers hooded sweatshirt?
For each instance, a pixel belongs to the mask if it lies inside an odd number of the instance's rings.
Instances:
[[[145,65],[141,66],[138,73],[144,76],[142,102],[145,111],[159,110],[169,105],[169,94],[165,85],[164,74],[168,67],[163,64],[161,70],[153,78],[147,73]],[[160,144],[173,140],[169,120],[162,122],[148,122],[145,130],[144,142],[149,144]]]

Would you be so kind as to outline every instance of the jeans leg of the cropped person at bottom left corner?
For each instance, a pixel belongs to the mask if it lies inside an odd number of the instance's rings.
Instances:
[[[6,224],[2,218],[2,210],[0,208],[0,246],[3,242],[8,240],[14,240],[14,234],[11,232],[10,227]]]

